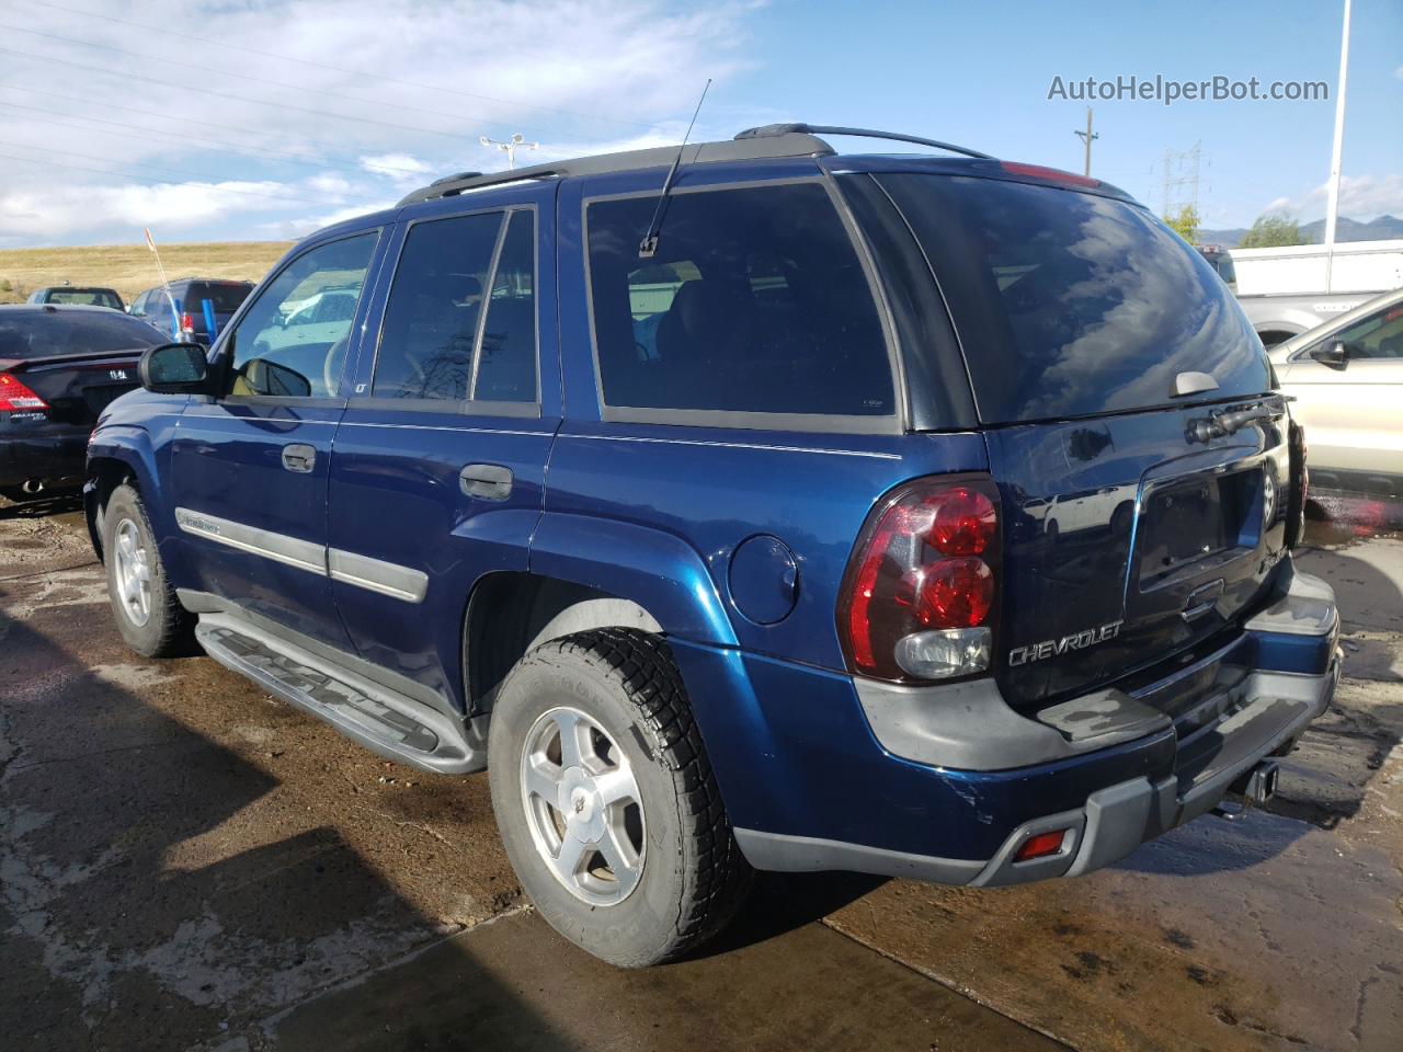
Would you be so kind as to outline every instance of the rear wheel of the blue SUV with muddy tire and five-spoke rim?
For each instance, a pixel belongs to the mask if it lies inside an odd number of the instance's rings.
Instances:
[[[595,957],[673,959],[739,906],[751,871],[655,635],[600,628],[522,658],[492,707],[488,774],[522,886]]]

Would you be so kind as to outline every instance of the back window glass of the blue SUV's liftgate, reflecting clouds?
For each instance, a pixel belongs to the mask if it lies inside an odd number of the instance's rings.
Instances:
[[[877,177],[934,268],[986,424],[1087,417],[1271,387],[1214,268],[1124,201],[960,175]]]

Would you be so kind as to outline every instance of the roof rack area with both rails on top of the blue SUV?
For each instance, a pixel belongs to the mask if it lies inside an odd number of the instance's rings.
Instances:
[[[854,135],[870,139],[891,139],[920,146],[933,146],[951,153],[962,153],[967,157],[988,157],[986,153],[968,150],[962,146],[943,143],[936,139],[922,139],[915,135],[899,132],[877,132],[870,128],[839,128],[832,125],[765,125],[763,128],[748,128],[734,139],[690,143],[682,147],[680,164],[697,164],[700,161],[748,161],[777,157],[831,157],[836,153],[819,135]],[[598,175],[610,171],[634,171],[640,168],[665,168],[678,160],[676,146],[655,146],[648,150],[626,150],[623,153],[605,153],[595,157],[577,157],[564,161],[547,161],[533,164],[529,168],[508,168],[506,171],[480,173],[463,171],[457,175],[446,175],[435,180],[427,187],[408,194],[400,206],[412,205],[418,201],[432,201],[434,198],[449,198],[478,187],[491,187],[508,182],[525,182],[529,180],[564,178],[567,175]]]

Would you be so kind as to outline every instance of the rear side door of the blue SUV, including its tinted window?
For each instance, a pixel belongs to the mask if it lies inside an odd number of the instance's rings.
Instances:
[[[526,569],[560,424],[553,252],[542,250],[554,245],[554,194],[455,198],[398,231],[379,331],[337,431],[337,609],[362,656],[446,697],[462,696],[474,582]]]

